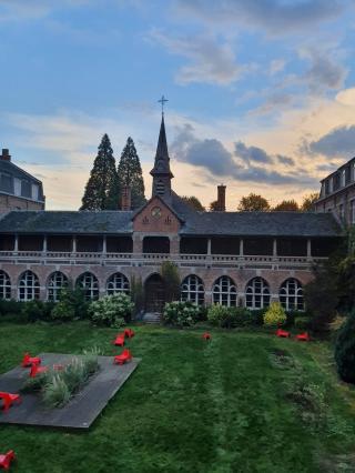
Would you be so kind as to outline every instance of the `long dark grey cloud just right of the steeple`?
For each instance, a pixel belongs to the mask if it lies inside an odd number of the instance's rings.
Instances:
[[[211,180],[211,178],[230,178],[236,181],[274,185],[315,185],[317,183],[317,179],[307,173],[303,175],[296,172],[282,174],[272,167],[265,168],[255,164],[255,162],[273,163],[272,157],[261,148],[246,147],[241,141],[234,143],[234,147],[235,153],[233,154],[216,139],[202,140],[196,138],[193,127],[185,124],[175,137],[171,145],[171,153],[178,161],[203,169],[207,180]]]

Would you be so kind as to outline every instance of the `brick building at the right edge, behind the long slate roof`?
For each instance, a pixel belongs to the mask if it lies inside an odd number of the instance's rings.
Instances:
[[[321,181],[316,212],[332,212],[342,223],[355,223],[355,158]]]

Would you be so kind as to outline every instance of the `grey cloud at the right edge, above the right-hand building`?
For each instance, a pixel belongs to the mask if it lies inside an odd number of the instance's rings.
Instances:
[[[302,151],[308,154],[323,154],[327,158],[355,155],[355,125],[338,127],[316,141],[305,142]]]

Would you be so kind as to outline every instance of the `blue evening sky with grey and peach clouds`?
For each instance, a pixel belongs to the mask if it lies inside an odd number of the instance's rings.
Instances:
[[[180,195],[302,202],[355,155],[352,0],[0,0],[0,148],[80,207],[108,133],[145,194],[164,94]]]

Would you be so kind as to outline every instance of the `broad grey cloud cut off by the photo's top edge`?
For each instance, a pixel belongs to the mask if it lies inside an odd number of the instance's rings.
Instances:
[[[263,28],[272,36],[315,28],[316,23],[338,17],[346,0],[176,0],[179,10],[211,23],[237,23]]]

